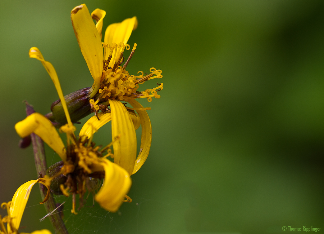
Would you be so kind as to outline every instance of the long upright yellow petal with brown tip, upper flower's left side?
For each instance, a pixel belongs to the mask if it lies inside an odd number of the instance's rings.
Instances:
[[[83,57],[87,62],[91,76],[95,80],[95,88],[92,92],[95,95],[99,90],[103,70],[101,37],[85,4],[73,8],[71,21]]]

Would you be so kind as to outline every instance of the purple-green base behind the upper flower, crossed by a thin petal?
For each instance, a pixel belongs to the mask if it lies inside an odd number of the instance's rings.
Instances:
[[[77,122],[91,113],[88,98],[90,89],[89,87],[80,89],[64,96],[72,122]],[[46,117],[52,122],[59,123],[57,127],[67,123],[61,100],[52,103],[51,111],[52,113],[48,113]]]

